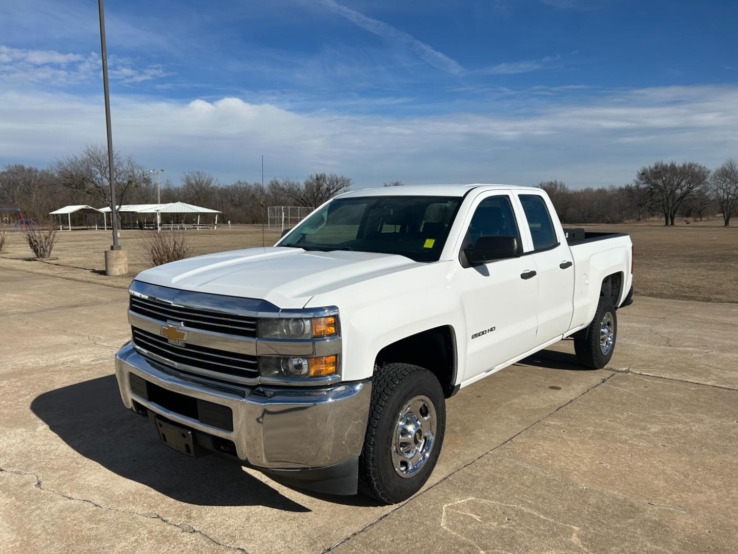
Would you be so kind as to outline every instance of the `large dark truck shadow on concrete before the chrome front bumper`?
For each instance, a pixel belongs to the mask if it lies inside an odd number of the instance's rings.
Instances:
[[[31,409],[82,456],[179,502],[311,511],[240,465],[215,456],[192,459],[170,451],[159,441],[154,425],[125,409],[114,375],[40,394]]]

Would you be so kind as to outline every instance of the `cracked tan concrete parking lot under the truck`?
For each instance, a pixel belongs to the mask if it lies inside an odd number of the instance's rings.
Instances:
[[[610,369],[562,341],[461,390],[387,507],[161,445],[117,391],[125,290],[0,269],[0,303],[4,552],[738,552],[738,304],[636,297]]]

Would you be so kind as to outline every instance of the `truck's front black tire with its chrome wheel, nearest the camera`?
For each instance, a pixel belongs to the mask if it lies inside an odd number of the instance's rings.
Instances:
[[[387,504],[413,496],[430,477],[446,431],[441,383],[408,363],[377,368],[359,456],[359,492]]]

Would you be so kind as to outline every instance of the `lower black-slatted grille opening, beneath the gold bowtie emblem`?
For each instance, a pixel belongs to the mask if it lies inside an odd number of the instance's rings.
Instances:
[[[258,377],[256,356],[188,343],[179,346],[137,327],[131,332],[139,352],[181,372],[237,383],[253,383]]]

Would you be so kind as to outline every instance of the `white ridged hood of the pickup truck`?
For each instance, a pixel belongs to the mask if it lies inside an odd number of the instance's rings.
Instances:
[[[301,308],[318,293],[421,265],[396,254],[266,247],[173,261],[145,270],[136,279],[162,287],[259,298],[280,308]]]

